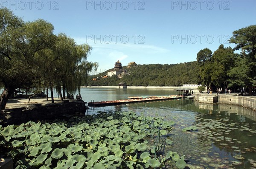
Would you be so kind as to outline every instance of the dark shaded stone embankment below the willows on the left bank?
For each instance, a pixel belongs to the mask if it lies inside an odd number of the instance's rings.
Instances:
[[[29,104],[27,107],[1,110],[0,125],[21,124],[28,121],[54,120],[67,114],[85,113],[86,102],[82,100],[65,101],[59,103]]]

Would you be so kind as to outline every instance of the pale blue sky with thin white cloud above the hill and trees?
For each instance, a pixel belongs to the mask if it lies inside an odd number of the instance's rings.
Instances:
[[[256,0],[0,0],[0,6],[90,45],[87,60],[99,63],[93,74],[118,60],[123,66],[196,61],[201,49],[233,48],[233,31],[256,25]]]

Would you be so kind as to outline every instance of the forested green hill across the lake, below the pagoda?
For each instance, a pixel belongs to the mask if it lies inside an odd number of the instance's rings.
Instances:
[[[126,66],[123,68],[127,69]],[[116,86],[120,82],[125,82],[129,86],[180,86],[200,83],[199,66],[196,61],[172,65],[137,65],[127,70],[130,74],[123,76],[122,79],[117,76],[102,78],[107,75],[107,71],[90,76],[87,86]],[[93,81],[93,78],[97,80]]]

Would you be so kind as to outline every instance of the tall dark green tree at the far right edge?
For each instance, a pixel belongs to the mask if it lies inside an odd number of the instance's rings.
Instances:
[[[230,86],[244,85],[249,88],[256,85],[256,25],[233,31],[230,43],[236,44],[234,50],[241,50],[241,57],[228,72]]]

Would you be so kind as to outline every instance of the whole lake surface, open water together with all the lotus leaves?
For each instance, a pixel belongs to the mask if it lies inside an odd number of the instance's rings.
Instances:
[[[95,101],[175,94],[88,90],[82,96]],[[17,168],[256,168],[256,113],[232,105],[179,99],[91,107],[85,117],[0,130],[0,152],[15,157]]]

